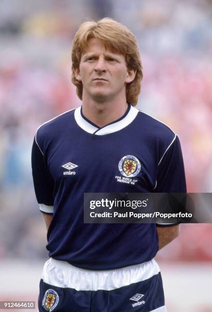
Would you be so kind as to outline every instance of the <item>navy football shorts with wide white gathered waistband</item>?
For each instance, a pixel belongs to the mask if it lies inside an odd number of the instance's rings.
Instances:
[[[50,258],[40,281],[39,311],[167,312],[160,269],[154,259],[105,271]]]

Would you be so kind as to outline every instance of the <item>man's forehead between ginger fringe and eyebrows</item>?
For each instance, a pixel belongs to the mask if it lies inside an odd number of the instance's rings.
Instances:
[[[82,55],[84,54],[90,54],[90,53],[110,53],[115,54],[119,56],[123,56],[121,52],[115,50],[112,48],[111,44],[109,42],[105,42],[103,40],[100,40],[98,38],[90,38],[87,41],[87,45],[85,46],[84,50],[82,51]]]

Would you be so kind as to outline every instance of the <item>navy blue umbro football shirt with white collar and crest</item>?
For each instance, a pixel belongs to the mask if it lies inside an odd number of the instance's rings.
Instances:
[[[155,224],[84,224],[84,192],[186,192],[177,135],[131,105],[104,127],[80,107],[45,122],[34,139],[32,171],[40,211],[53,214],[50,257],[90,270],[150,261],[158,237]]]

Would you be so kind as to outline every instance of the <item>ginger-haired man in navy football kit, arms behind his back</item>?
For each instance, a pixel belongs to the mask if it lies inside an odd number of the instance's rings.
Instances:
[[[185,192],[179,139],[134,108],[143,73],[124,25],[84,22],[72,62],[82,107],[41,125],[32,149],[50,255],[39,311],[166,311],[154,256],[179,225],[84,224],[83,193]],[[134,185],[122,183],[127,175]]]

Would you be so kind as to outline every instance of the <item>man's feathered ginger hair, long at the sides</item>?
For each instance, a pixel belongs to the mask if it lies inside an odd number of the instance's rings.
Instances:
[[[77,87],[77,95],[82,100],[83,85],[75,76],[74,69],[80,67],[82,54],[86,51],[88,40],[97,38],[103,41],[105,48],[125,56],[127,68],[136,71],[135,78],[126,85],[126,98],[135,106],[143,78],[142,62],[135,36],[123,24],[105,17],[99,21],[82,23],[74,37],[72,46],[72,82]]]

